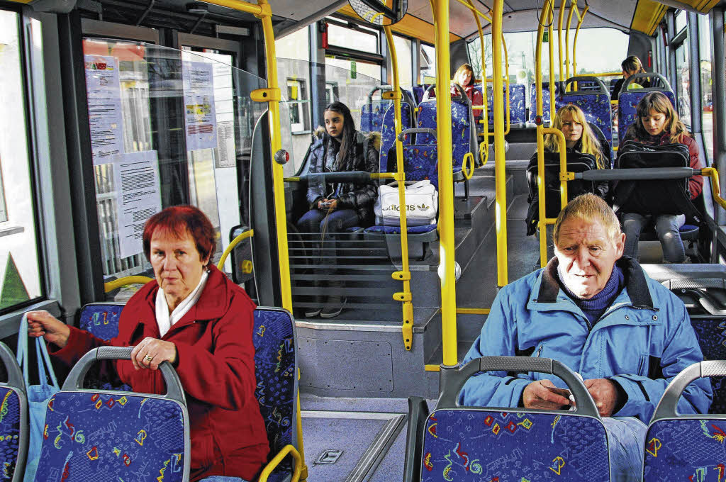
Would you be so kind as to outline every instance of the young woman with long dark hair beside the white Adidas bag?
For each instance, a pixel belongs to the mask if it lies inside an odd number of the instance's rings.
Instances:
[[[364,135],[356,131],[351,111],[343,102],[333,102],[325,107],[323,113],[325,130],[319,128],[310,148],[309,173],[379,171],[378,148],[380,136],[375,133]],[[308,184],[308,203],[310,211],[298,220],[298,231],[323,234],[344,232],[353,226],[373,224],[373,203],[378,197],[378,183],[331,182],[312,179]],[[331,241],[332,242],[332,241]],[[327,243],[330,244],[330,243]],[[322,251],[322,247],[316,250]],[[331,250],[325,253],[326,264],[335,264]],[[340,287],[340,283],[338,283]],[[319,297],[317,297],[319,298]],[[335,294],[327,297],[325,309],[316,299],[316,306],[306,309],[306,318],[338,316],[346,303],[346,298]]]

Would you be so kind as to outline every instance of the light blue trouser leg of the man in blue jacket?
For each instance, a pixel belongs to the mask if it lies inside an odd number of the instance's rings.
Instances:
[[[640,482],[648,427],[635,417],[603,417],[613,482]]]

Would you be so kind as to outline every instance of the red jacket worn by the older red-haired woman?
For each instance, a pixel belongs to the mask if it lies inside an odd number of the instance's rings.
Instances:
[[[72,365],[97,346],[134,346],[150,336],[174,342],[191,422],[191,481],[211,475],[251,481],[266,463],[269,446],[255,398],[255,304],[214,266],[199,301],[163,337],[156,324],[157,282],[144,285],[121,312],[110,342],[70,327],[68,344],[53,353]],[[134,391],[164,393],[161,373],[115,362],[118,377]]]

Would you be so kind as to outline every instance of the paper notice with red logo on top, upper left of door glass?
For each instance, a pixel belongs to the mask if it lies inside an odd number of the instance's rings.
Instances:
[[[93,163],[105,164],[110,162],[110,156],[123,154],[118,59],[103,55],[85,55],[84,61]]]

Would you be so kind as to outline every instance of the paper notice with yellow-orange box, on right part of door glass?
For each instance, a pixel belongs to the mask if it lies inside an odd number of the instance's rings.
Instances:
[[[181,62],[181,79],[187,151],[213,149],[217,147],[213,66],[206,62]]]

